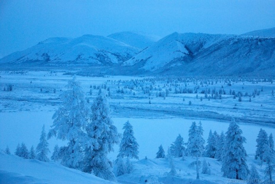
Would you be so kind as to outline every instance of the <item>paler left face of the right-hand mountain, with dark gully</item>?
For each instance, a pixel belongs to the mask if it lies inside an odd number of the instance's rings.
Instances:
[[[196,53],[226,37],[229,36],[174,32],[125,61],[123,65],[129,66],[141,62],[144,63],[143,69],[154,71],[169,63],[188,61]]]

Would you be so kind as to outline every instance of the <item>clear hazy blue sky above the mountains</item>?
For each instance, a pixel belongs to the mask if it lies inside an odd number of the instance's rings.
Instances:
[[[242,34],[271,27],[274,0],[0,0],[0,58],[50,37],[120,31]]]

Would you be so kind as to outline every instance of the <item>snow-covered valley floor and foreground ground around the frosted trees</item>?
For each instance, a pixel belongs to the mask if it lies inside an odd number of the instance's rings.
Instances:
[[[13,155],[17,144],[30,150],[36,148],[45,125],[45,133],[53,127],[52,117],[64,103],[62,94],[69,92],[68,81],[73,79],[69,71],[1,71],[0,73],[0,139],[1,139],[1,182],[2,183],[112,183],[93,174],[81,172],[82,169],[70,169],[62,166],[62,159],[56,162],[42,162],[37,159],[24,159]],[[138,77],[138,76],[76,76],[83,90],[83,97],[88,107],[100,91],[106,94],[113,125],[123,138],[123,126],[131,123],[133,135],[138,146],[138,157],[130,157],[130,173],[119,171],[120,165],[115,160],[120,153],[119,144],[114,144],[114,151],[107,154],[113,163],[112,172],[117,183],[248,183],[245,180],[230,179],[223,176],[222,161],[202,153],[199,157],[200,180],[196,180],[196,157],[184,152],[184,157],[168,154],[171,144],[176,145],[179,134],[181,146],[188,150],[190,143],[189,129],[192,122],[202,123],[204,130],[203,146],[209,145],[210,130],[212,135],[225,134],[234,117],[242,136],[246,138],[243,148],[246,150],[246,165],[251,170],[255,165],[258,181],[266,180],[266,162],[258,165],[255,160],[257,136],[260,128],[270,133],[275,132],[275,97],[274,79],[237,76],[193,76],[193,77]],[[70,84],[70,83],[69,83]],[[62,100],[63,99],[63,100]],[[35,118],[34,118],[35,117]],[[131,129],[131,128],[130,128]],[[31,132],[26,134],[26,132]],[[216,132],[216,133],[215,133]],[[218,141],[218,138],[215,139]],[[67,146],[68,140],[47,139],[50,158],[55,152],[55,145]],[[192,142],[192,141],[191,141]],[[128,145],[128,144],[126,144]],[[130,144],[131,145],[131,144]],[[165,158],[155,158],[158,147],[162,145]],[[6,147],[12,155],[5,154]],[[216,145],[218,146],[218,145]],[[169,149],[170,147],[170,149]],[[173,147],[173,146],[172,146]],[[209,147],[209,146],[208,146]],[[214,146],[215,147],[215,146]],[[206,148],[206,147],[205,147]],[[171,173],[171,160],[174,173]],[[208,165],[209,173],[203,174]],[[122,159],[127,163],[126,157]],[[64,165],[64,162],[63,162]],[[16,166],[16,167],[15,167]],[[33,172],[33,171],[36,172]],[[58,176],[45,174],[45,170],[59,173]],[[206,169],[207,170],[207,169]],[[118,174],[120,172],[120,174]],[[68,178],[70,175],[71,178]],[[273,174],[274,177],[274,174]],[[244,179],[244,178],[242,178]]]

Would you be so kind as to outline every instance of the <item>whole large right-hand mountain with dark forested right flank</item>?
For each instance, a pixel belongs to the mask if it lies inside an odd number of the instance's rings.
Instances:
[[[275,38],[173,33],[124,66],[167,74],[242,74],[275,70]]]

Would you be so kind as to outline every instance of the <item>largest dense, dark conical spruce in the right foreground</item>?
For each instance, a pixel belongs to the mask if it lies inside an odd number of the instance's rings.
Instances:
[[[221,171],[223,176],[227,178],[245,180],[249,173],[246,165],[246,151],[243,143],[246,142],[242,136],[242,130],[239,128],[235,119],[232,118],[228,130],[226,132],[224,150],[222,157]]]

